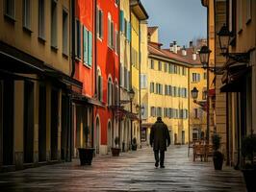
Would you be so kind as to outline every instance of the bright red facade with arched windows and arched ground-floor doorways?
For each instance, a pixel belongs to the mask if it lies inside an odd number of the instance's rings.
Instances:
[[[107,154],[118,136],[115,108],[118,104],[118,1],[97,0],[96,6],[96,95],[103,107],[94,106],[96,153]]]

